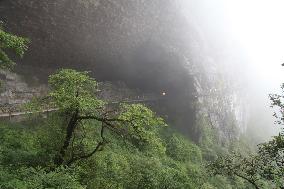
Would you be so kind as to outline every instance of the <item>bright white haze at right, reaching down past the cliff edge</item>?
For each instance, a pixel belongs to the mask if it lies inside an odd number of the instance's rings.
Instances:
[[[268,94],[280,93],[284,82],[284,0],[200,0],[195,11],[208,30],[213,42],[235,43],[245,63],[240,63],[240,77],[244,77],[250,99],[253,130],[259,135],[274,135],[273,110]],[[190,9],[190,8],[189,8]],[[211,34],[210,34],[211,33]],[[220,43],[222,43],[220,42]],[[230,51],[230,49],[226,49]],[[238,50],[231,49],[238,55]],[[216,52],[218,53],[218,52]],[[234,55],[235,56],[235,55]],[[238,64],[231,61],[228,64]]]

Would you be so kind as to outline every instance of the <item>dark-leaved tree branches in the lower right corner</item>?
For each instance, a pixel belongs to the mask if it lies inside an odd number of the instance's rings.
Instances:
[[[276,123],[284,124],[284,84],[282,94],[270,95],[271,106],[279,111],[274,113]],[[255,154],[244,156],[234,153],[219,156],[209,166],[214,175],[241,177],[255,188],[261,188],[266,182],[276,188],[284,188],[284,132],[274,136],[270,141],[259,144]]]

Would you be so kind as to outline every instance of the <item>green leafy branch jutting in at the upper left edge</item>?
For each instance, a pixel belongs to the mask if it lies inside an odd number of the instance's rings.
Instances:
[[[0,69],[11,69],[15,62],[7,55],[7,51],[13,51],[16,55],[23,57],[28,49],[29,40],[7,33],[0,22]]]

